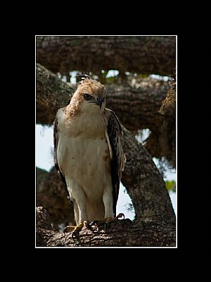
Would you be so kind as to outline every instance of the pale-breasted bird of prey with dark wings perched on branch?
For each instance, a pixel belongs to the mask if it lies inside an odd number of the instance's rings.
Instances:
[[[122,127],[106,108],[106,88],[89,75],[68,106],[58,109],[53,122],[54,164],[73,204],[77,226],[64,232],[78,235],[83,226],[109,223],[116,216],[120,180],[126,158]]]

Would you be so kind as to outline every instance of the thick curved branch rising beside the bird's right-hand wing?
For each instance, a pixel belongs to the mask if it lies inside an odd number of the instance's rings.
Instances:
[[[132,199],[136,219],[175,223],[170,195],[151,155],[128,130],[123,129],[127,162],[122,172],[122,184]]]

